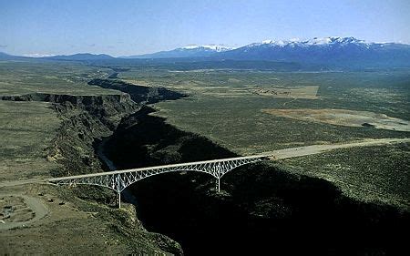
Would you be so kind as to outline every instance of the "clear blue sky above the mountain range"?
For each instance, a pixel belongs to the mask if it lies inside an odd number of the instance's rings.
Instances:
[[[410,44],[409,0],[0,0],[0,52],[129,56],[354,36]]]

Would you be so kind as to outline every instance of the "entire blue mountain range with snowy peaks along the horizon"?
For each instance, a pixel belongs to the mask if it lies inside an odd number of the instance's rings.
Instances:
[[[0,54],[0,59],[17,56]],[[21,57],[21,56],[20,56]],[[76,54],[47,56],[55,60],[112,60],[112,59],[183,59],[184,61],[274,61],[321,67],[410,67],[410,45],[397,43],[369,43],[354,37],[330,36],[309,40],[265,40],[247,46],[184,46],[170,51],[121,56]]]

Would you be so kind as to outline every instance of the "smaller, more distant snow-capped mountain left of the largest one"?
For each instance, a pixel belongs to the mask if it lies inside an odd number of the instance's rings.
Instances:
[[[230,51],[233,48],[227,46],[207,45],[207,46],[183,46],[170,51],[161,51],[153,54],[139,56],[125,56],[126,58],[168,58],[168,57],[199,57],[213,56],[217,53]]]

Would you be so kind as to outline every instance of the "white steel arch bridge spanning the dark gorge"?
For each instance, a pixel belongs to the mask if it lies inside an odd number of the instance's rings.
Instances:
[[[231,159],[214,159],[208,161],[171,164],[138,169],[122,169],[108,172],[90,173],[76,176],[48,179],[56,185],[97,185],[113,189],[118,193],[118,207],[121,207],[121,192],[129,185],[154,175],[175,171],[199,171],[212,175],[216,179],[216,189],[220,192],[220,179],[232,169],[268,159],[271,155],[257,155]]]

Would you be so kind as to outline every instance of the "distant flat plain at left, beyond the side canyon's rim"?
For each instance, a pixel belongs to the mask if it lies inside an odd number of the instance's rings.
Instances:
[[[0,96],[51,93],[67,95],[117,94],[87,86],[92,78],[108,77],[112,70],[76,62],[0,61]]]

